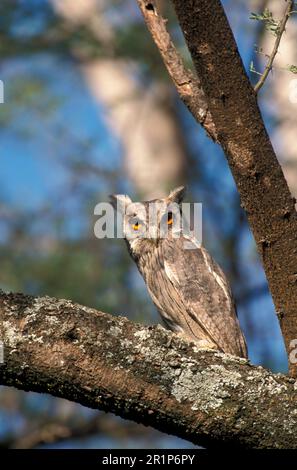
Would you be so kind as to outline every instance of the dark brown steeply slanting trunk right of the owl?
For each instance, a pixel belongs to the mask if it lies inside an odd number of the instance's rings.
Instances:
[[[172,3],[217,141],[225,151],[262,257],[289,353],[292,340],[297,339],[296,201],[272,148],[220,1],[172,0]],[[200,122],[194,109],[192,106],[193,116]],[[291,363],[290,370],[297,375],[296,364]]]

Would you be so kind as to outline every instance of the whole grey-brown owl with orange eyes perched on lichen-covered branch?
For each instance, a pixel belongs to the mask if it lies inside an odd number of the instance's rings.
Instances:
[[[181,223],[185,188],[142,203],[112,195],[123,236],[168,329],[197,343],[247,357],[231,290],[221,268]],[[187,232],[189,233],[189,232]]]

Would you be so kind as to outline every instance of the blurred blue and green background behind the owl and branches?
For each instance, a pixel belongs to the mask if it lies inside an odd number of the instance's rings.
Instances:
[[[170,2],[159,3],[190,64]],[[271,48],[250,12],[269,4],[280,16],[282,3],[223,1],[248,73],[251,60],[261,70],[265,59],[254,45]],[[278,60],[296,63],[293,19],[283,42]],[[123,241],[95,238],[94,206],[113,192],[145,199],[186,183],[187,200],[203,203],[204,244],[231,281],[251,361],[285,371],[273,303],[225,157],[180,102],[135,0],[2,0],[0,60],[0,287],[158,322]],[[288,99],[288,76],[275,71],[260,105],[296,196],[296,105]],[[2,387],[0,446],[190,444]]]

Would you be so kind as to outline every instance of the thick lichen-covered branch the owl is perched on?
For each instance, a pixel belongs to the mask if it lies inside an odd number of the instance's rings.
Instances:
[[[0,383],[196,444],[297,447],[294,379],[69,300],[0,294]]]

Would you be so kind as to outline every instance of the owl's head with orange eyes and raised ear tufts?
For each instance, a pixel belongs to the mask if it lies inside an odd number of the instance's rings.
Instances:
[[[181,228],[181,203],[185,187],[179,186],[162,199],[133,202],[129,196],[113,194],[111,201],[120,212],[123,234],[132,251],[172,236]]]

